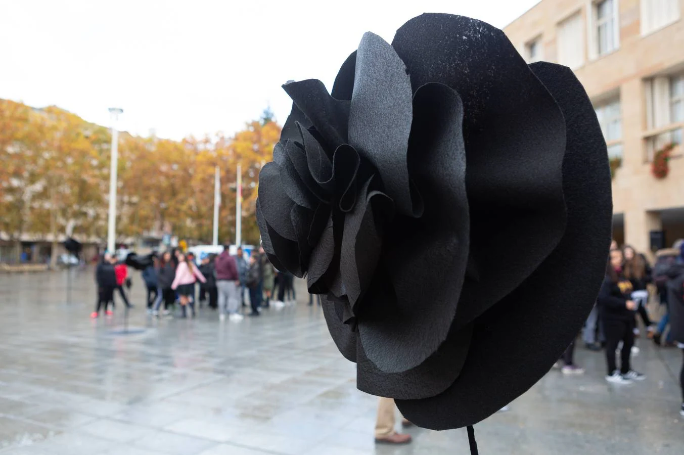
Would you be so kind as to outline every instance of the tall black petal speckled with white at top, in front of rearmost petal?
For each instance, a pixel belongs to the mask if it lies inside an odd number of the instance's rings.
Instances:
[[[487,270],[464,283],[456,319],[466,324],[527,278],[562,236],[563,116],[491,25],[423,14],[399,28],[392,44],[414,89],[441,82],[463,100],[470,253]],[[492,222],[492,213],[503,222]]]

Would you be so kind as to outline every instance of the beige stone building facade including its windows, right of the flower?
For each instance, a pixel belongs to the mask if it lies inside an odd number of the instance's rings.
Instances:
[[[684,237],[684,0],[542,0],[504,28],[528,62],[564,64],[606,138],[614,238],[644,252]],[[669,174],[653,174],[671,148]],[[656,234],[657,235],[657,234]]]

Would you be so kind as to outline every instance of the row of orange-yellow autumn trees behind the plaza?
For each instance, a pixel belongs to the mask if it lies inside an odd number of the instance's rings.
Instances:
[[[219,236],[222,242],[234,242],[239,164],[242,238],[257,244],[259,170],[272,160],[279,137],[270,109],[231,137],[218,133],[173,141],[120,133],[118,242],[161,231],[210,242],[217,166]],[[32,109],[0,100],[0,232],[17,246],[24,233],[51,239],[53,246],[72,233],[104,239],[110,141],[109,129],[57,107]]]

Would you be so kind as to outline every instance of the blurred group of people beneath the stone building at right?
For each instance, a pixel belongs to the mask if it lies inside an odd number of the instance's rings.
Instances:
[[[658,321],[649,314],[649,302],[661,307]],[[605,380],[627,385],[646,379],[631,366],[631,357],[639,352],[635,338],[644,335],[642,328],[659,348],[679,348],[684,354],[684,241],[659,250],[653,266],[633,247],[611,244],[603,285],[582,333],[587,349],[605,350]],[[575,365],[574,350],[573,342],[555,365],[564,374],[584,373]],[[684,416],[684,362],[679,380]]]

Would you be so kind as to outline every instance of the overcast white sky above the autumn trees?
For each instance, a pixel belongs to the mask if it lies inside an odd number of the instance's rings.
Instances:
[[[57,105],[163,138],[231,134],[271,105],[282,123],[288,79],[328,90],[360,41],[390,42],[423,12],[504,27],[538,0],[0,0],[0,98]]]

